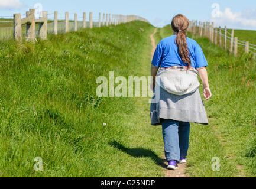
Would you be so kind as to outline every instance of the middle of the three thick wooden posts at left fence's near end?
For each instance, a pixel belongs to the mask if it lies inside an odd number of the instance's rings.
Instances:
[[[26,24],[27,30],[27,40],[33,41],[35,40],[35,9],[30,9],[30,11],[26,12],[28,21]]]

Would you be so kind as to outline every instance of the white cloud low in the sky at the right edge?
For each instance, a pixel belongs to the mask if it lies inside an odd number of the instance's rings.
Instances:
[[[256,9],[244,12],[232,12],[226,8],[224,12],[219,11],[219,17],[212,17],[212,21],[217,26],[227,26],[228,28],[241,28],[256,30]]]

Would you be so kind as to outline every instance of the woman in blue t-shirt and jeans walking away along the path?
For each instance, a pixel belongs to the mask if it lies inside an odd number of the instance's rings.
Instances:
[[[178,14],[173,18],[171,27],[174,35],[160,41],[151,65],[153,99],[158,100],[152,100],[150,116],[151,125],[162,125],[163,128],[167,168],[176,170],[177,163],[186,162],[190,122],[208,125],[205,105],[199,93],[198,74],[205,100],[210,99],[212,93],[203,51],[186,34],[188,19]]]

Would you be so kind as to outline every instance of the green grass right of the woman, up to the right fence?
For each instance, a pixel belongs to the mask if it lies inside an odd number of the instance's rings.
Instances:
[[[167,26],[158,30],[156,36],[171,34]],[[186,171],[193,177],[255,177],[255,60],[242,53],[235,58],[208,38],[194,38],[208,60],[213,96],[205,102],[210,124],[192,125]],[[220,171],[211,170],[212,157],[219,157]]]

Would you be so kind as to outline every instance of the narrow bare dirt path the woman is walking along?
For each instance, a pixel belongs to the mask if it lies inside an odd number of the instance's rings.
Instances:
[[[155,28],[154,32],[152,35],[150,35],[151,38],[151,44],[152,44],[152,51],[151,51],[151,56],[154,56],[154,52],[155,52],[155,39],[154,39],[154,34],[157,32],[157,29]],[[165,159],[165,157],[163,157],[163,159]],[[167,162],[164,161],[164,163],[166,164],[167,167]],[[178,169],[175,171],[171,171],[171,170],[165,170],[165,175],[166,177],[189,177],[189,175],[185,174],[185,168],[186,168],[186,164],[178,164]]]

